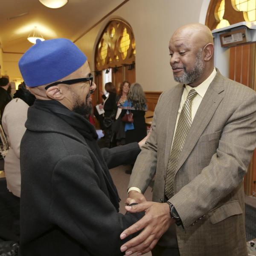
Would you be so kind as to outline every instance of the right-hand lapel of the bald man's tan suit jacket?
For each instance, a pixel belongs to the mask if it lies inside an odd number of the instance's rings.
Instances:
[[[205,93],[204,98],[201,101],[201,104],[199,105],[198,111],[196,112],[195,118],[186,137],[186,141],[183,145],[183,149],[180,153],[180,158],[177,164],[176,172],[186,161],[192,149],[195,147],[195,144],[197,143],[199,137],[201,136],[204,129],[210,122],[213,114],[218,108],[218,105],[223,99],[223,96],[221,94],[221,92],[223,91],[223,77],[217,70],[217,74],[213,81],[211,82],[211,84],[209,85],[209,88]]]

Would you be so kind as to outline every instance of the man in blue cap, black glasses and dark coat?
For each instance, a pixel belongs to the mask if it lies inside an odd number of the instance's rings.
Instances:
[[[96,85],[71,41],[37,41],[19,67],[37,98],[20,144],[21,256],[122,255],[119,235],[142,215],[118,213],[108,168],[134,161],[138,143],[99,149],[84,118]]]

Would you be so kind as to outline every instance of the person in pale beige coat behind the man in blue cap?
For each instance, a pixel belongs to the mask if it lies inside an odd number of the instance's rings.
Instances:
[[[34,101],[35,96],[26,89],[23,82],[3,112],[3,130],[10,145],[4,160],[4,171],[7,188],[17,197],[20,197],[20,141],[26,131],[28,108]]]

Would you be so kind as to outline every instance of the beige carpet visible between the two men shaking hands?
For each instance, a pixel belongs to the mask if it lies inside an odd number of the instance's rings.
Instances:
[[[127,186],[129,183],[130,175],[125,173],[125,170],[131,169],[131,166],[119,166],[116,168],[113,168],[110,170],[110,173],[112,175],[113,181],[116,185],[116,188],[119,193],[119,197],[121,198],[120,202],[120,212],[125,213],[125,200],[127,198]],[[151,201],[152,199],[152,192],[151,188],[148,187],[148,189],[145,192],[145,198],[148,201]],[[136,254],[132,254],[131,256],[135,256]],[[151,256],[151,253],[145,253],[144,256]]]

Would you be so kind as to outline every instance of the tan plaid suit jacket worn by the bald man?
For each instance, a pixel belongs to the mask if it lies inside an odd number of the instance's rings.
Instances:
[[[129,183],[145,192],[155,175],[153,201],[160,203],[183,89],[177,84],[161,94]],[[169,199],[184,226],[176,228],[180,256],[247,255],[243,177],[255,147],[256,92],[217,70],[180,154]]]

